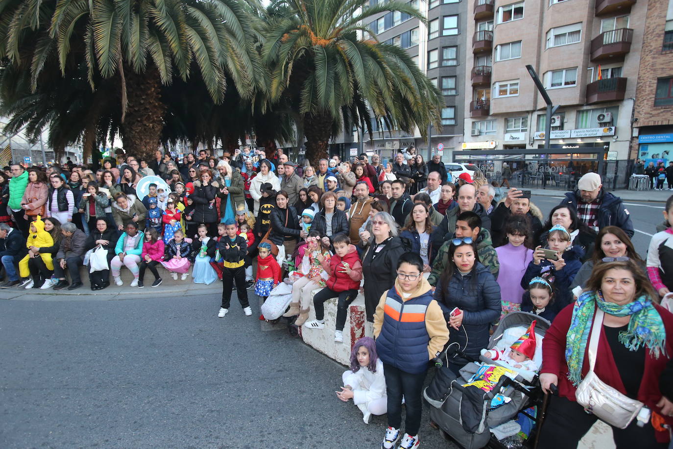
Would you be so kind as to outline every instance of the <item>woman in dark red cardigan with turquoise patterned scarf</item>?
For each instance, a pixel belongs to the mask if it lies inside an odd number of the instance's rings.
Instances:
[[[586,413],[575,392],[589,372],[588,347],[594,314],[604,312],[594,372],[600,380],[631,399],[641,401],[653,415],[673,424],[673,403],[662,396],[659,380],[673,355],[673,314],[658,302],[643,269],[631,260],[594,267],[577,302],[556,316],[542,342],[540,383],[545,392],[554,384],[538,447],[577,448],[598,417]],[[673,381],[673,380],[670,380]],[[673,398],[672,398],[673,399]],[[666,448],[668,430],[657,430],[633,419],[625,428],[612,426],[617,449]]]

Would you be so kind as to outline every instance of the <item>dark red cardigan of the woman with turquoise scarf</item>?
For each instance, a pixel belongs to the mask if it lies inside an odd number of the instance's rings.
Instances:
[[[570,328],[570,320],[573,316],[574,304],[569,304],[559,312],[554,318],[551,327],[546,331],[544,340],[542,341],[542,368],[540,373],[551,373],[559,376],[559,396],[564,396],[571,401],[575,401],[575,391],[577,388],[568,380],[568,366],[565,361],[565,345],[566,335]],[[651,356],[649,351],[645,355],[645,371],[643,372],[643,382],[640,384],[638,390],[638,400],[645,403],[647,407],[653,411],[660,412],[661,409],[656,407],[656,403],[662,399],[662,392],[659,389],[659,378],[666,368],[666,363],[673,355],[673,314],[668,310],[654,304],[657,312],[659,312],[664,322],[664,329],[666,329],[666,354],[660,355],[658,358]],[[619,377],[617,367],[614,364],[612,351],[610,345],[606,341],[605,333],[601,328],[600,339],[598,340],[598,357],[596,357],[596,368],[594,369],[596,375],[600,380],[606,384],[616,388],[622,394],[626,394],[624,384]],[[582,377],[589,372],[589,341],[587,341],[586,353],[582,363]],[[673,424],[673,418],[667,417],[666,422]]]

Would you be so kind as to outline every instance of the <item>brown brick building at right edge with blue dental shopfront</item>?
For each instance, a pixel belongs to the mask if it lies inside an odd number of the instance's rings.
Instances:
[[[631,159],[673,160],[673,1],[650,1],[635,91]]]

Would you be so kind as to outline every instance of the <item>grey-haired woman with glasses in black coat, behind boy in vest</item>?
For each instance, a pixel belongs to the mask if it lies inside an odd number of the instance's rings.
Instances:
[[[365,279],[365,311],[367,321],[374,322],[374,312],[384,291],[397,278],[397,260],[406,252],[398,236],[397,223],[387,212],[379,212],[371,219],[369,250],[362,258]],[[362,236],[361,236],[362,237]]]

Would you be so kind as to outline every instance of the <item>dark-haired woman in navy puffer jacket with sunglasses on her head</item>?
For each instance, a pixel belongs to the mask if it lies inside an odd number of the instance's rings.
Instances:
[[[459,242],[449,246],[449,263],[441,273],[435,300],[450,325],[449,345],[459,351],[449,357],[449,367],[456,376],[470,361],[479,360],[481,349],[488,347],[491,323],[500,316],[500,285],[487,267],[479,263],[474,243]],[[451,311],[460,312],[451,316]]]

